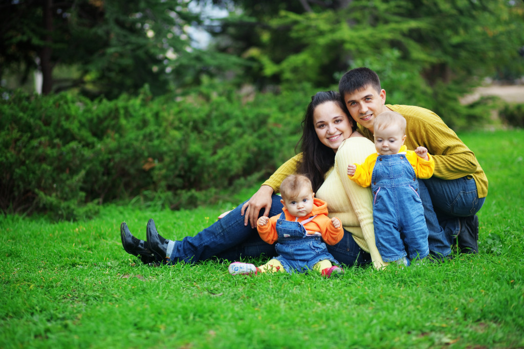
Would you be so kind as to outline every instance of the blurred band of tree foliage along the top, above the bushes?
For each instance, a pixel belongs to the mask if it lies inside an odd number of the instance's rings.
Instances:
[[[191,5],[210,2],[230,15],[204,23]],[[145,83],[159,95],[206,77],[332,86],[366,64],[431,91],[439,81],[520,77],[523,10],[515,0],[16,0],[0,4],[0,78],[39,68],[45,92],[116,97]],[[191,45],[195,26],[214,35],[210,48]],[[77,73],[53,79],[57,66]]]

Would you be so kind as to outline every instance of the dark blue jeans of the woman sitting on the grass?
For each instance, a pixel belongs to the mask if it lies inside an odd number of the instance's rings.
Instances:
[[[282,213],[282,203],[279,195],[272,195],[269,216]],[[250,225],[244,225],[244,216],[240,214],[242,204],[205,228],[195,236],[186,236],[174,244],[169,263],[184,261],[197,263],[201,260],[217,257],[227,260],[238,260],[246,257],[275,257],[275,245],[264,242],[258,232]],[[262,212],[260,212],[260,215]],[[369,263],[369,253],[362,250],[350,232],[344,231],[342,240],[334,245],[328,245],[328,251],[340,263],[352,266]]]

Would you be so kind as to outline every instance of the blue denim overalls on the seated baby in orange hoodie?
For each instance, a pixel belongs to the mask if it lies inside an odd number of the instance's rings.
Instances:
[[[286,220],[286,215],[282,212],[277,220],[278,243],[275,249],[279,256],[275,259],[278,259],[289,273],[293,270],[299,272],[311,270],[315,264],[324,259],[330,260],[333,264],[339,264],[328,252],[320,236],[306,233],[303,224],[313,220],[314,217],[303,222],[290,222]]]

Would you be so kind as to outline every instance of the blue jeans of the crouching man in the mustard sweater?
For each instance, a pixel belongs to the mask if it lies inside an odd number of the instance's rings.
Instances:
[[[463,217],[473,217],[482,208],[485,198],[478,198],[471,176],[452,180],[419,179],[419,193],[429,230],[430,252],[447,256],[455,237],[464,230]]]

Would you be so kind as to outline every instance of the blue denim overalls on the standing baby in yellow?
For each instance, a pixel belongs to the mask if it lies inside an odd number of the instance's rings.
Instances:
[[[379,155],[371,177],[375,242],[384,261],[429,254],[418,181],[405,152]],[[406,249],[408,254],[406,254]]]

